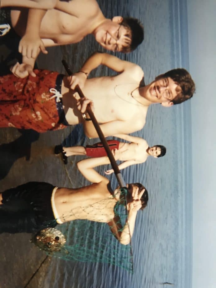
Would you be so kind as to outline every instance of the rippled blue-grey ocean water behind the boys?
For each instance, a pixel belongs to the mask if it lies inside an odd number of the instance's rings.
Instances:
[[[167,70],[188,65],[187,1],[186,0],[110,0],[98,1],[108,18],[133,16],[141,20],[145,40],[136,51],[122,59],[139,64],[145,82]],[[62,54],[74,71],[95,50],[101,50],[91,36],[81,43],[64,46]],[[99,67],[91,76],[113,74]],[[80,127],[73,135],[65,135],[67,146],[89,143]],[[150,146],[167,147],[165,157],[148,159],[145,164],[122,171],[126,182],[141,182],[149,191],[146,209],[137,214],[133,234],[133,275],[125,269],[106,263],[80,263],[53,259],[45,279],[45,287],[74,288],[154,288],[191,287],[192,248],[192,183],[191,183],[191,101],[171,108],[152,105],[145,127],[133,133]],[[75,139],[74,139],[75,138]],[[79,160],[74,158],[74,163]],[[87,185],[79,173],[68,172],[74,187]],[[103,173],[106,167],[99,171]],[[71,170],[72,171],[72,170]],[[114,176],[112,186],[117,186]]]

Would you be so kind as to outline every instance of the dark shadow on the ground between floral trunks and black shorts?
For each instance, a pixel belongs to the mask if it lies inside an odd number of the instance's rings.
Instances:
[[[34,130],[19,130],[21,136],[10,143],[0,145],[0,180],[5,178],[14,162],[22,157],[29,161],[31,143],[38,140],[39,133]]]

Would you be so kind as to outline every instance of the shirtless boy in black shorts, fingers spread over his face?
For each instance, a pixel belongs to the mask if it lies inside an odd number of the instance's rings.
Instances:
[[[29,182],[0,193],[0,232],[37,232],[75,219],[107,223],[124,245],[130,242],[128,221],[121,226],[115,205],[123,201],[119,187],[111,190],[109,180],[97,173],[100,158],[78,163],[83,176],[93,184],[81,188],[58,188],[45,182]],[[131,236],[139,209],[144,209],[148,193],[140,183],[128,184],[128,220]]]

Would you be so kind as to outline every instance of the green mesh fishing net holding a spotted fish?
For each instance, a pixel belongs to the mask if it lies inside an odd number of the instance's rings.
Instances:
[[[123,230],[127,220],[126,193],[127,190],[122,188],[121,194],[124,194],[125,200],[121,200],[121,203],[116,202],[114,206],[114,214],[118,220],[115,227],[119,229],[118,232]],[[98,214],[101,215],[101,221],[103,219],[104,201],[100,202],[98,203],[101,205],[97,205],[100,207],[100,210],[96,212],[97,221]],[[110,207],[112,205],[110,204]],[[88,218],[92,219],[95,209],[88,206],[85,210],[88,211],[86,212],[89,214]],[[65,218],[71,214],[74,214],[74,211],[65,213]],[[129,229],[127,233],[130,237]],[[131,243],[121,244],[110,231],[107,223],[73,220],[59,224],[55,228],[45,228],[34,234],[31,241],[50,256],[70,261],[109,263],[133,272]]]

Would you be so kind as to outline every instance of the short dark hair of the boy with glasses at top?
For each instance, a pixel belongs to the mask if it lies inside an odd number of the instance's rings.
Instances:
[[[130,35],[128,35],[128,37],[131,38],[130,45],[123,47],[121,52],[131,52],[135,50],[144,39],[143,27],[138,19],[132,17],[124,17],[120,25],[129,29]]]

